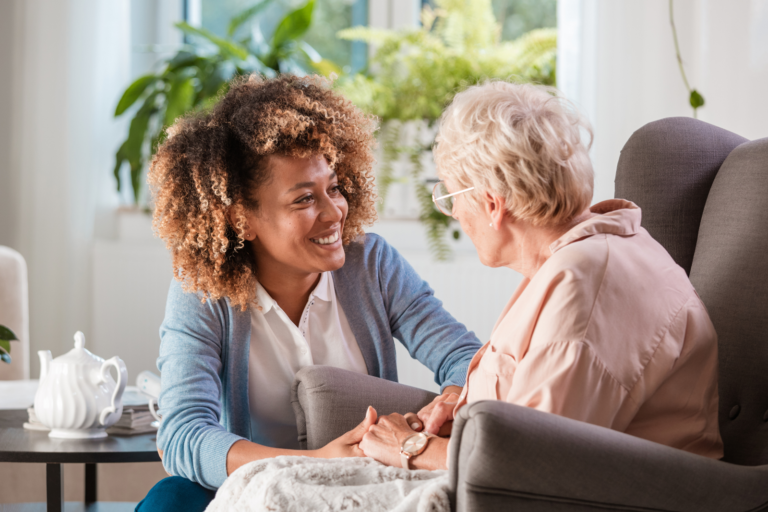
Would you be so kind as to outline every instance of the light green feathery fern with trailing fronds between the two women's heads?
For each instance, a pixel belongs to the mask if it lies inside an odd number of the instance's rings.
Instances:
[[[382,122],[380,205],[393,183],[407,181],[414,187],[430,251],[445,260],[451,255],[446,235],[453,219],[434,208],[431,186],[424,179],[435,122],[459,90],[487,79],[555,85],[557,33],[538,29],[501,41],[490,0],[435,4],[435,9],[423,9],[419,28],[341,31],[339,37],[365,41],[377,50],[367,70],[343,77],[337,87]],[[453,236],[458,238],[459,231],[454,229]]]

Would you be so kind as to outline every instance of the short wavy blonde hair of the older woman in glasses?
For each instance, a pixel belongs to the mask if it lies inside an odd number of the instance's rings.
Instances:
[[[454,97],[434,158],[442,178],[498,194],[515,218],[552,226],[592,201],[591,143],[589,122],[557,89],[497,80]],[[477,197],[467,196],[469,204],[478,206]]]

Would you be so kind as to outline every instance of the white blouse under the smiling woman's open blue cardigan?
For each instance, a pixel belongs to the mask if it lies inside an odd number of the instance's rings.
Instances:
[[[300,369],[324,365],[368,374],[363,354],[336,300],[333,276],[323,272],[309,295],[298,327],[257,283],[251,307],[248,398],[253,441],[298,449],[291,386]]]

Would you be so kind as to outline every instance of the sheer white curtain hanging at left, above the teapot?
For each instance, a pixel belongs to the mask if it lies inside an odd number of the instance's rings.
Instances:
[[[33,354],[58,355],[91,324],[94,219],[117,203],[110,169],[125,125],[111,114],[130,78],[130,2],[13,0],[4,9],[14,23],[1,57],[11,90],[0,187],[12,199],[0,243],[28,263]]]

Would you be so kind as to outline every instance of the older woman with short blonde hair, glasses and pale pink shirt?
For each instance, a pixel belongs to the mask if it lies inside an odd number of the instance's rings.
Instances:
[[[555,90],[533,85],[471,87],[443,114],[435,201],[483,264],[524,279],[461,396],[418,417],[435,434],[469,402],[504,400],[720,458],[715,330],[640,208],[589,207],[589,131]],[[445,468],[441,437],[422,436],[426,448],[401,458],[414,421],[380,418],[360,448],[390,465]]]

